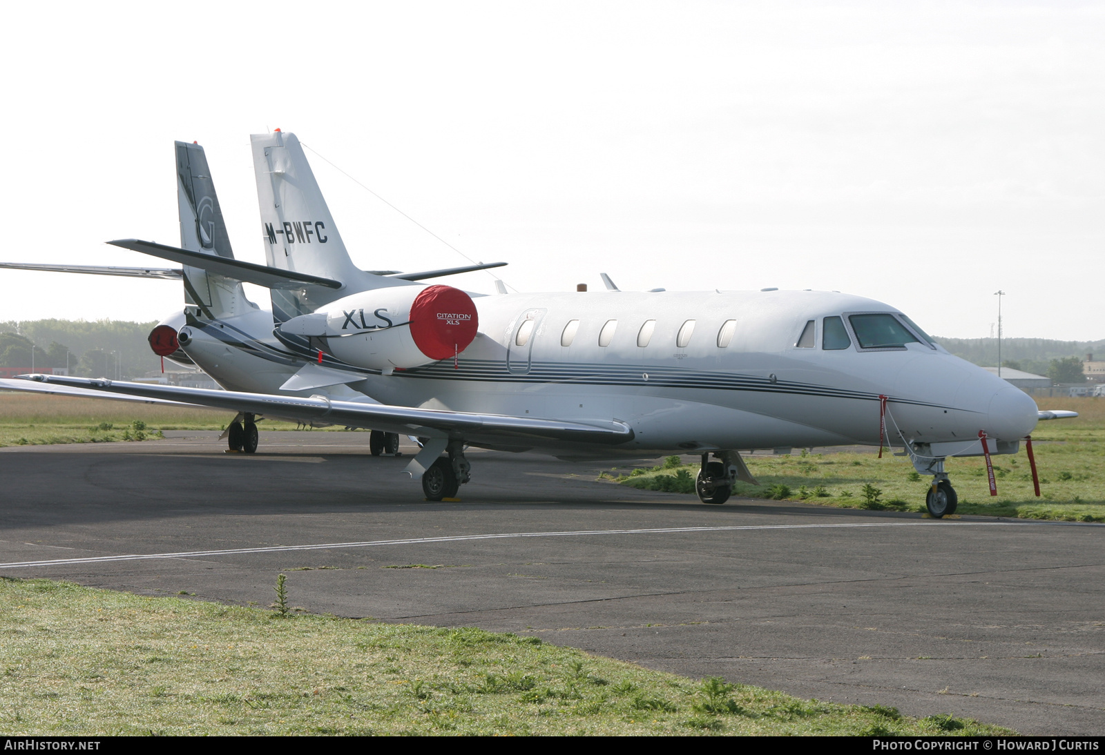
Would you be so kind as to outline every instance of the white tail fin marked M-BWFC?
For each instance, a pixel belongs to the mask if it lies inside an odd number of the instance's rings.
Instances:
[[[317,286],[272,289],[273,319],[280,323],[350,293],[411,285],[359,269],[349,258],[303,147],[294,134],[254,134],[253,170],[257,180],[262,243],[272,267],[340,280],[335,291]]]

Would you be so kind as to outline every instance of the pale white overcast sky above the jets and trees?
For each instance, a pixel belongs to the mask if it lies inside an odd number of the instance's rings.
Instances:
[[[172,266],[172,141],[263,263],[249,135],[355,262],[522,291],[836,289],[932,333],[1105,338],[1105,3],[19,3],[4,262]],[[315,152],[311,151],[315,150]],[[160,319],[180,285],[0,270],[0,320]],[[492,276],[449,280],[490,293]],[[267,293],[251,288],[267,306]]]

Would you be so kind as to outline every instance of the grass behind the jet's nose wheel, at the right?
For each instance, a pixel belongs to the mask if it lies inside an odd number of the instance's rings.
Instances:
[[[1035,498],[1023,445],[1013,456],[994,456],[998,496],[991,497],[981,457],[948,459],[945,469],[959,495],[958,513],[1105,522],[1105,400],[1050,398],[1048,408],[1073,410],[1076,419],[1040,423],[1032,435],[1041,498]],[[652,468],[608,475],[645,490],[694,493],[697,465],[675,459]],[[925,511],[928,479],[905,457],[874,454],[750,456],[745,459],[760,482],[737,482],[748,498],[803,500],[821,506]]]

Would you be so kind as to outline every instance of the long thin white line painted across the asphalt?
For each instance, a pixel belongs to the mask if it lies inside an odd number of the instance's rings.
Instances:
[[[249,553],[288,553],[294,551],[327,551],[379,545],[417,545],[420,543],[457,543],[473,540],[505,540],[508,538],[580,538],[588,535],[670,534],[681,532],[738,532],[748,530],[827,530],[864,527],[948,527],[950,522],[871,522],[849,524],[746,524],[733,527],[664,527],[651,530],[568,530],[560,532],[498,532],[480,535],[445,535],[441,538],[404,538],[402,540],[367,540],[355,543],[317,543],[312,545],[267,545],[264,547],[235,547],[221,551],[180,551],[178,553],[129,553],[125,555],[93,556],[88,559],[53,559],[50,561],[13,561],[0,568],[27,566],[64,566],[66,564],[98,564],[113,561],[147,561],[155,559],[196,559],[214,555]],[[956,522],[953,527],[1023,527],[1020,522]]]

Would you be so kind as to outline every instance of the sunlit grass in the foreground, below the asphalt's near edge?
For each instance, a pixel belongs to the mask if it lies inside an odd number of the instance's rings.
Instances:
[[[0,634],[4,734],[1011,733],[695,681],[534,637],[48,579],[0,578]]]

